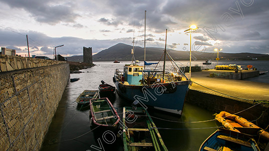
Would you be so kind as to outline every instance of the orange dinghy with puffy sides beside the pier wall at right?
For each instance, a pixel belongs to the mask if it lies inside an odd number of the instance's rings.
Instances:
[[[261,138],[269,141],[268,132],[242,117],[221,111],[219,114],[215,115],[215,119],[228,130],[250,135],[258,135]]]

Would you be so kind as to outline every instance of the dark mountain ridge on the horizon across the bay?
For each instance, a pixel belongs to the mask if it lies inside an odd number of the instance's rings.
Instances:
[[[92,56],[92,61],[130,61],[131,60],[131,45],[118,43],[107,49],[104,49]],[[164,48],[146,47],[146,60],[159,60]],[[189,51],[178,51],[167,49],[168,53],[174,60],[189,60]],[[192,60],[215,60],[216,52],[199,52],[191,51]],[[134,49],[135,60],[144,60],[144,48],[136,46]],[[223,53],[219,52],[221,60],[269,60],[269,55],[257,53]],[[68,61],[83,61],[83,56],[67,57]],[[166,60],[169,60],[166,57]]]

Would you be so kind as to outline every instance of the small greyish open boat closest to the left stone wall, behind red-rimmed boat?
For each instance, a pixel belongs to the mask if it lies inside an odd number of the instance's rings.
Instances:
[[[91,99],[98,97],[98,90],[84,90],[75,100],[78,105],[88,105]]]

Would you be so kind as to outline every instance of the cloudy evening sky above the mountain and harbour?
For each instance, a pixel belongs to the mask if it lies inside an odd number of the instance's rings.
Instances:
[[[52,57],[93,53],[117,43],[143,47],[144,10],[146,46],[193,51],[269,54],[267,0],[0,0],[0,47],[30,55]],[[126,50],[129,51],[129,50]]]

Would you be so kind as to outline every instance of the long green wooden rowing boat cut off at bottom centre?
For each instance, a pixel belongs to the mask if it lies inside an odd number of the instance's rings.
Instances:
[[[168,151],[144,108],[123,107],[124,151]]]

